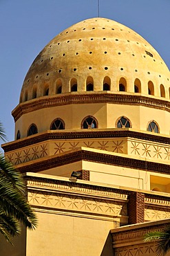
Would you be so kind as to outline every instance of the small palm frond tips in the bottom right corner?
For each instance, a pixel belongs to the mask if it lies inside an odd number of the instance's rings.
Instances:
[[[156,240],[156,255],[166,255],[170,250],[170,226],[162,232],[149,232],[145,235],[145,241],[153,240]]]

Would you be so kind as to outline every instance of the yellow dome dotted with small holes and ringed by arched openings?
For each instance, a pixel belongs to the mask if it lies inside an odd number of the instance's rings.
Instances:
[[[121,82],[122,81],[122,82]],[[72,91],[121,91],[169,99],[169,69],[157,51],[138,33],[116,21],[81,21],[54,37],[36,57],[25,77],[20,102]],[[87,89],[87,85],[94,87]],[[154,86],[154,92],[152,87]]]

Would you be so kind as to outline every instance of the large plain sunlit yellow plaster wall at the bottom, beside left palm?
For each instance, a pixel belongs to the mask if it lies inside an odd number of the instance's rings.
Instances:
[[[39,228],[28,231],[26,256],[98,256],[114,222],[37,212]],[[21,255],[20,255],[21,256]]]

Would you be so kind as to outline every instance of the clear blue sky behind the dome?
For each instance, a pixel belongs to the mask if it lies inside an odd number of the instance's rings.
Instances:
[[[65,28],[97,15],[97,0],[0,0],[0,120],[10,141],[11,111],[36,55]],[[100,17],[136,30],[170,67],[170,0],[100,0]]]

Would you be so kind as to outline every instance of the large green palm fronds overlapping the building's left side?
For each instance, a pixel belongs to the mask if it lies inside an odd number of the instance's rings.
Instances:
[[[0,122],[0,139],[5,141]],[[0,154],[0,232],[12,244],[12,237],[26,228],[36,228],[36,216],[25,199],[26,186],[21,174]]]

